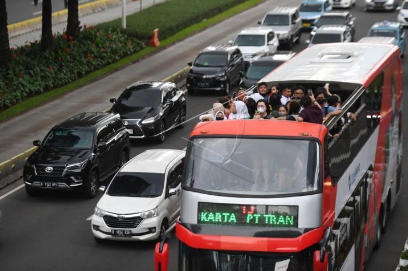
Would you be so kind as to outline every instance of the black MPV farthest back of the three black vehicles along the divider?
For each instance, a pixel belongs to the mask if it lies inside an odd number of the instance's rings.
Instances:
[[[230,86],[244,75],[244,59],[236,46],[212,45],[202,50],[187,74],[188,94],[197,90],[222,91],[230,94]]]

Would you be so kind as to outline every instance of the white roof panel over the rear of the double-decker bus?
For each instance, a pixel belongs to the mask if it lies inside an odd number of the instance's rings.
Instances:
[[[266,75],[265,82],[344,82],[365,85],[374,68],[398,50],[391,44],[326,43],[298,53]]]

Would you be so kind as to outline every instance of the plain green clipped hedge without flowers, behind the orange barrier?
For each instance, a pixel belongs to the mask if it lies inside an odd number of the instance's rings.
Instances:
[[[126,17],[124,33],[141,41],[151,38],[153,29],[159,28],[159,38],[167,39],[182,29],[211,18],[245,0],[167,0]],[[96,27],[121,28],[121,19],[98,24]]]

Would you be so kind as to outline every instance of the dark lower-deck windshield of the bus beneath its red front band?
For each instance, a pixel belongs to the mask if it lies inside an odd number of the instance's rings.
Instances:
[[[309,249],[298,253],[251,253],[195,249],[183,242],[180,246],[181,271],[313,270],[313,251]]]

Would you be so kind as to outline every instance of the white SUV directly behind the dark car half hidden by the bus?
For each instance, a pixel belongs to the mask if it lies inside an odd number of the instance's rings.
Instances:
[[[239,48],[244,56],[245,68],[253,58],[265,53],[274,53],[279,46],[277,35],[272,29],[261,29],[259,27],[250,27],[242,30],[234,42],[229,41]]]

